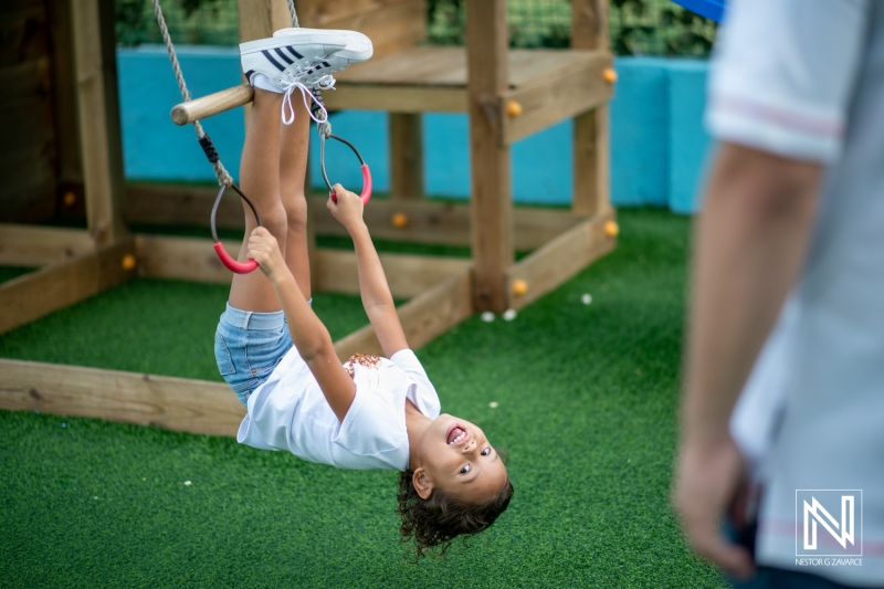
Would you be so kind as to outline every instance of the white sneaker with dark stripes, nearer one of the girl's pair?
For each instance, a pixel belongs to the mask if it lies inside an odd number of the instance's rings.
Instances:
[[[240,44],[242,71],[250,84],[254,76],[264,74],[271,83],[284,92],[293,77],[323,64],[336,52],[345,49],[349,39],[343,31],[316,29],[291,29],[292,34],[275,35]],[[322,77],[315,76],[317,80]]]

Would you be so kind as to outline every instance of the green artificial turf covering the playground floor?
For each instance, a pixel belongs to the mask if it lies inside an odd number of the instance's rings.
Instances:
[[[688,224],[622,211],[614,253],[515,320],[473,317],[419,351],[443,410],[511,454],[513,503],[469,547],[407,564],[392,472],[0,411],[0,585],[723,587],[667,504]],[[0,336],[0,355],[217,379],[224,295],[135,281]],[[315,308],[337,336],[364,320],[354,297]]]

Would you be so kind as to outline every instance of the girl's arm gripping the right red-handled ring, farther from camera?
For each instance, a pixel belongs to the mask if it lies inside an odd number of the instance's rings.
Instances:
[[[380,265],[378,252],[371,243],[371,235],[362,221],[362,201],[359,197],[345,190],[340,185],[335,185],[338,202],[328,199],[328,210],[340,221],[352,238],[356,248],[356,262],[359,272],[359,293],[362,295],[362,306],[375,328],[383,355],[390,358],[401,349],[408,348],[402,324],[396,313],[396,304],[387,284],[387,276]]]

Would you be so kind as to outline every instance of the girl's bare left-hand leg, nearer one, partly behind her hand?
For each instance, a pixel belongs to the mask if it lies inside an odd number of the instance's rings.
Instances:
[[[286,211],[280,199],[280,107],[282,94],[255,88],[255,99],[249,117],[245,145],[240,165],[240,188],[254,203],[261,224],[276,238],[280,249],[286,251]],[[245,244],[257,227],[249,206],[245,211],[245,238],[240,249],[239,261],[248,260]],[[280,311],[271,282],[261,271],[234,274],[230,286],[230,304],[242,311],[269,313]]]

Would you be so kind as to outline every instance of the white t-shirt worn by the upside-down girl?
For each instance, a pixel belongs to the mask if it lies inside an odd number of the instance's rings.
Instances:
[[[293,346],[249,397],[249,413],[236,441],[264,450],[287,450],[338,469],[407,470],[406,399],[430,419],[438,418],[440,410],[439,397],[418,357],[403,349],[389,360],[344,366],[352,370],[356,397],[343,423]]]

